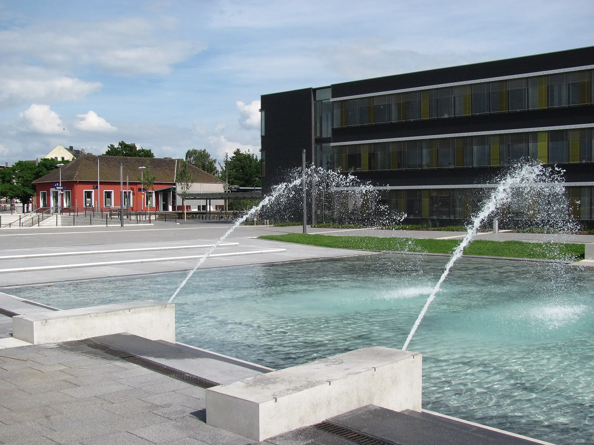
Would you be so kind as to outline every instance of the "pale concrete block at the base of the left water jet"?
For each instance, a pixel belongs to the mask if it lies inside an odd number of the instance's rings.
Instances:
[[[12,317],[12,335],[35,345],[129,332],[175,342],[175,305],[132,301]]]

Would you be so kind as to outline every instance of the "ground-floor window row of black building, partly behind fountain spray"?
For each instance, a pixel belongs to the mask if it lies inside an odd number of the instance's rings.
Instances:
[[[578,220],[594,219],[593,187],[565,187],[571,215]],[[408,218],[441,218],[468,220],[484,205],[492,189],[422,189],[382,190],[380,199],[393,212],[406,213]],[[510,220],[526,220],[545,214],[548,202],[526,200],[523,192],[513,196],[510,204],[501,210],[501,217]],[[539,208],[541,206],[541,208]]]

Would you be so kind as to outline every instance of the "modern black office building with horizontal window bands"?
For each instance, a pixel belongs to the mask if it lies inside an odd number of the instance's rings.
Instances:
[[[445,223],[468,218],[502,170],[532,159],[565,169],[573,214],[589,225],[593,82],[586,47],[265,94],[263,188],[306,149],[318,167],[369,180],[411,222]]]

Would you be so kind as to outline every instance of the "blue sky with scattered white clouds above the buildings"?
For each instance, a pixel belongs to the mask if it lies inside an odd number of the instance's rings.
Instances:
[[[594,45],[592,0],[0,0],[0,163],[259,155],[260,95]]]

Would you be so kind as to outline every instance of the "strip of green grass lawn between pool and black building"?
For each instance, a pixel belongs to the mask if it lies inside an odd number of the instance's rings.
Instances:
[[[452,253],[461,240],[378,238],[371,236],[329,236],[287,233],[261,236],[263,240],[308,244],[337,249],[393,250],[397,252]],[[507,256],[513,258],[583,259],[584,244],[526,243],[524,241],[472,241],[466,255]]]

